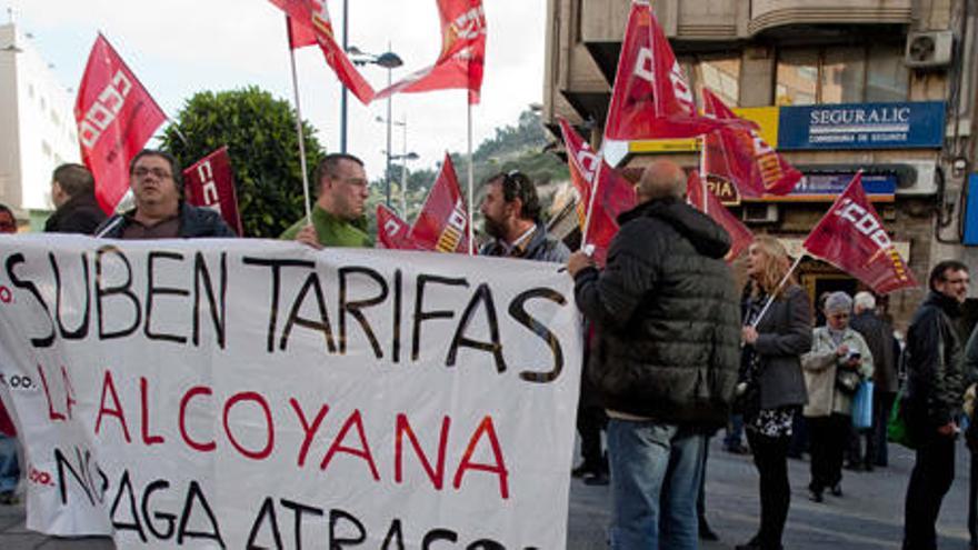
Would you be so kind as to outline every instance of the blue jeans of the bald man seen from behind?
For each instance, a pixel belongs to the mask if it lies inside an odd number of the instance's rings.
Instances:
[[[613,550],[696,550],[705,441],[673,424],[608,421]]]

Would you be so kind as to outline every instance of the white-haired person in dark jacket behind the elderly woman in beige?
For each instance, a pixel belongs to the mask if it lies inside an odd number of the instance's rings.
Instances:
[[[870,471],[875,466],[888,463],[886,424],[899,384],[897,358],[894,353],[894,329],[876,314],[876,298],[870,292],[856,293],[852,313],[849,327],[862,336],[872,353],[872,427],[866,434],[866,456],[861,463]],[[858,439],[856,457],[859,457]]]

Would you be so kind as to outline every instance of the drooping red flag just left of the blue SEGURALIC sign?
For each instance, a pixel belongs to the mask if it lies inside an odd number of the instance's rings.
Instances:
[[[740,119],[707,88],[702,94],[707,116],[719,120]],[[801,179],[801,172],[767,144],[756,130],[725,128],[709,133],[702,154],[707,173],[734,182],[744,197],[787,194]]]

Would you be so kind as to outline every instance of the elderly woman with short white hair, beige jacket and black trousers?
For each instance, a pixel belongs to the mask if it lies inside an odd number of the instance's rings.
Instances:
[[[849,328],[852,299],[832,292],[825,302],[825,327],[812,333],[811,351],[801,357],[808,404],[802,410],[811,441],[809,498],[822,501],[830,489],[842,496],[842,454],[852,422],[852,397],[872,377],[872,354],[859,332]]]

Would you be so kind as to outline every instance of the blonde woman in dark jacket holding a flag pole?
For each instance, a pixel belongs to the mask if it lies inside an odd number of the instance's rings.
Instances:
[[[800,357],[811,347],[811,306],[789,277],[790,263],[774,237],[758,236],[750,244],[738,390],[756,401],[744,403],[744,422],[760,474],[760,528],[737,550],[780,550],[791,502],[788,443],[795,414],[807,400]]]

